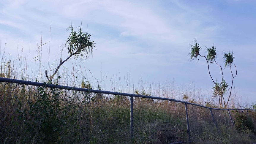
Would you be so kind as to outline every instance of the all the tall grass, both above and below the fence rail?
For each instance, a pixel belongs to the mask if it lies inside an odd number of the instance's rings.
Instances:
[[[41,42],[42,43],[42,42]],[[40,51],[40,50],[39,50]],[[42,71],[35,77],[26,77],[29,67],[19,58],[1,57],[1,77],[43,82]],[[41,58],[39,58],[41,59]],[[14,64],[15,63],[15,64]],[[40,64],[39,66],[42,66]],[[21,72],[20,69],[23,69]],[[42,67],[38,68],[42,69]],[[102,89],[99,80],[82,75],[81,66],[73,65],[71,74],[64,72],[53,83],[83,88]],[[218,107],[218,102],[207,103],[200,91],[190,86],[183,91],[175,84],[131,86],[129,80],[111,78],[113,91],[152,95]],[[124,82],[124,84],[122,84]],[[96,84],[94,86],[93,84]],[[120,85],[118,85],[118,83]],[[126,86],[126,88],[122,87]],[[129,92],[130,91],[130,92]],[[45,97],[44,97],[45,96]],[[44,99],[43,99],[44,97]],[[235,97],[236,98],[236,97]],[[229,107],[239,107],[233,99]],[[130,140],[130,99],[126,96],[82,93],[70,90],[38,88],[13,83],[0,83],[0,142],[1,143],[174,143],[188,142],[185,104],[156,100],[134,99],[134,133]],[[255,143],[255,111],[231,112],[235,127],[227,111],[188,105],[188,118],[193,143]],[[239,115],[241,114],[241,115]],[[248,122],[249,121],[249,122]],[[241,127],[242,126],[242,127]],[[243,127],[244,126],[244,127]],[[252,127],[252,128],[251,128]]]

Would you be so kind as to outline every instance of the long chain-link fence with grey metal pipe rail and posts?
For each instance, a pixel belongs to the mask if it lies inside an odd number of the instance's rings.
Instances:
[[[0,77],[1,143],[192,142],[236,113],[255,123],[255,110]]]

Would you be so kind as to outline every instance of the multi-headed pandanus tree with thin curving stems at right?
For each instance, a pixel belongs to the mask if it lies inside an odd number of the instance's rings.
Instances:
[[[234,62],[234,56],[233,56],[233,52],[228,52],[228,53],[224,53],[224,63],[225,63],[225,67],[230,67],[230,72],[232,75],[232,83],[231,83],[231,87],[230,87],[230,93],[228,95],[228,99],[225,102],[224,99],[224,95],[227,94],[228,92],[228,84],[226,83],[225,79],[224,79],[224,75],[223,75],[223,69],[222,67],[217,63],[216,58],[217,58],[217,50],[214,46],[212,46],[211,48],[206,48],[207,51],[207,56],[206,55],[201,55],[200,54],[200,50],[201,47],[199,46],[199,44],[197,43],[197,40],[195,40],[195,44],[191,45],[191,51],[190,51],[190,61],[193,61],[195,59],[198,58],[197,61],[199,61],[200,57],[204,57],[206,62],[207,62],[207,66],[208,66],[208,72],[209,75],[211,77],[211,80],[214,83],[214,87],[213,87],[213,98],[218,98],[219,99],[219,106],[220,107],[224,107],[226,108],[228,105],[228,102],[230,100],[230,96],[231,96],[231,92],[232,92],[232,87],[233,87],[233,81],[234,81],[234,77],[236,77],[237,75],[237,70],[236,70],[236,74],[233,75],[231,66],[233,65]],[[213,77],[211,76],[211,72],[210,72],[210,67],[209,67],[209,63],[213,64],[217,64],[220,69],[221,69],[221,74],[222,74],[222,79],[220,80],[220,83],[216,81],[214,81]],[[235,69],[236,69],[236,65],[234,64]]]

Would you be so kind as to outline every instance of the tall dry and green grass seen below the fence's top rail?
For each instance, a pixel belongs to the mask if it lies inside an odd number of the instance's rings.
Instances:
[[[57,90],[55,94],[59,94],[56,97],[60,100],[59,107],[54,107],[55,101],[48,106],[44,101],[37,103],[37,109],[31,111],[31,106],[34,107],[42,93],[38,92],[36,87],[10,83],[1,83],[0,87],[1,142],[130,143],[130,102],[126,97]],[[42,89],[48,94],[49,100],[54,99],[53,91],[49,88]],[[42,107],[38,108],[39,105]],[[47,115],[51,108],[56,114],[55,118],[54,115],[39,119],[33,117],[33,113]],[[216,119],[219,128],[217,132],[207,110],[188,105],[191,137],[194,143],[251,143],[256,140],[252,130],[245,129],[241,132],[231,127],[230,123],[226,124],[225,116],[224,120]],[[214,115],[220,114],[214,112]],[[250,115],[255,118],[254,112],[250,112]],[[42,129],[44,118],[51,121],[49,124],[61,120],[62,125],[56,126],[56,132],[45,131]],[[132,143],[177,141],[188,141],[184,104],[135,98]]]

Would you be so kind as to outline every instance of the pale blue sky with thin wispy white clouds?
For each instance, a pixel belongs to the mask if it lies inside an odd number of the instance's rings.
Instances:
[[[185,90],[211,91],[205,59],[189,59],[190,45],[197,39],[201,55],[215,46],[223,68],[223,54],[234,53],[233,92],[250,105],[256,102],[255,7],[253,0],[5,0],[0,1],[0,56],[13,59],[17,70],[25,58],[29,72],[24,77],[38,75],[38,70],[53,69],[60,58],[67,58],[68,28],[82,26],[95,43],[93,55],[86,61],[67,61],[63,72],[75,65],[81,72],[74,76],[99,81],[104,90],[113,90],[119,81],[115,91],[127,83],[173,83]],[[219,67],[210,64],[210,71],[220,81]],[[231,86],[228,67],[224,77]]]

